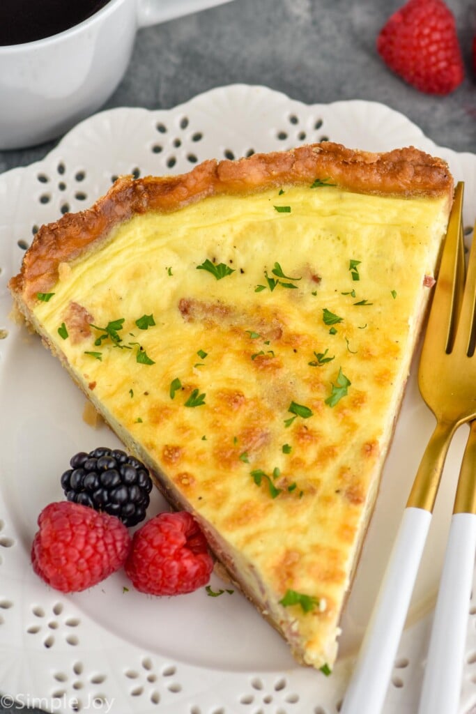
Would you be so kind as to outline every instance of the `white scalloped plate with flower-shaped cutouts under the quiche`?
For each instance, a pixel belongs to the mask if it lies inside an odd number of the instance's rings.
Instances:
[[[476,216],[476,156],[436,147],[382,104],[307,106],[261,86],[213,89],[167,111],[114,109],[91,117],[44,161],[0,176],[0,704],[113,714],[335,714],[375,598],[433,419],[412,376],[373,523],[343,618],[333,674],[296,665],[279,636],[235,592],[203,588],[148,598],[120,573],[62,595],[29,562],[41,508],[63,495],[59,476],[76,451],[116,446],[83,421],[83,397],[39,339],[9,319],[6,287],[41,223],[79,211],[119,174],[183,172],[203,159],[289,149],[331,139],[383,151],[413,144],[447,159],[466,183],[465,224]],[[468,230],[468,236],[470,231]],[[447,458],[442,493],[395,661],[385,714],[417,708],[452,494],[465,442]],[[164,504],[154,496],[151,507]],[[215,577],[217,590],[221,583]],[[461,714],[476,703],[476,599],[468,617]],[[365,713],[363,713],[365,714]]]

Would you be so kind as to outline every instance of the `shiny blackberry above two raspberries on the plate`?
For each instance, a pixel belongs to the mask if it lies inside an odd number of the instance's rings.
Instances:
[[[68,501],[117,516],[125,526],[135,526],[146,517],[152,480],[137,458],[99,446],[76,453],[69,465],[61,476]]]

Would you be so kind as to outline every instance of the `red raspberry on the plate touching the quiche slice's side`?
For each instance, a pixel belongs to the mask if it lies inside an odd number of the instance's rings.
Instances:
[[[213,560],[205,536],[186,511],[159,513],[133,535],[126,575],[150,595],[191,593],[208,583]]]

